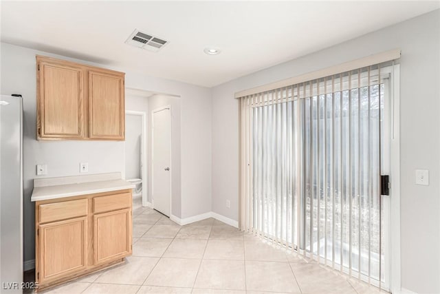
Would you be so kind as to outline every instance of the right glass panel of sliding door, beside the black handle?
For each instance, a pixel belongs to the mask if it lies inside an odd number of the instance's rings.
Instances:
[[[300,248],[337,269],[379,280],[384,84],[312,96],[301,107],[306,151]]]

